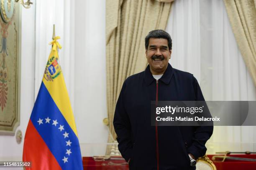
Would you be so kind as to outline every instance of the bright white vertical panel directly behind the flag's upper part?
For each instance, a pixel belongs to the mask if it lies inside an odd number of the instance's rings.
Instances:
[[[36,1],[36,67],[35,99],[43,78],[43,71],[51,51],[53,25],[56,36],[63,47],[59,50],[59,60],[64,75],[69,98],[74,105],[74,3],[70,0]],[[73,106],[74,108],[74,106]]]

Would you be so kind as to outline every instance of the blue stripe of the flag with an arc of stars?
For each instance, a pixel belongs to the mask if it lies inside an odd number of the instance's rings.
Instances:
[[[49,121],[50,123],[46,123],[45,119],[47,117],[51,119]],[[67,120],[61,114],[43,82],[41,83],[30,119],[62,169],[83,169],[77,136],[70,128]],[[40,125],[38,122],[39,119],[43,122]],[[57,120],[58,124],[56,126],[52,125],[54,122],[53,120]],[[64,130],[61,131],[58,129],[60,128],[60,125],[64,125]],[[69,133],[69,137],[64,138],[63,134],[65,132]],[[67,146],[66,141],[68,140],[72,142],[71,146]],[[71,149],[70,151],[72,152],[70,155],[66,154],[69,149]],[[65,158],[68,158],[68,162],[66,163],[62,160],[64,159],[64,156]]]

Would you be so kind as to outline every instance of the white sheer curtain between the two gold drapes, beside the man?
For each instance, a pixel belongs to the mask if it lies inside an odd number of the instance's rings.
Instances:
[[[256,100],[222,0],[174,1],[166,31],[173,40],[170,63],[194,74],[205,100]],[[255,142],[255,127],[215,126],[208,153],[255,151]]]

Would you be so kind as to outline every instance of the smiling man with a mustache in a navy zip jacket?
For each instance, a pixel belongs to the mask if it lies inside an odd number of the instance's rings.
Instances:
[[[131,170],[195,170],[212,126],[151,126],[151,101],[204,101],[195,77],[172,68],[172,39],[164,30],[145,38],[148,66],[123,83],[115,108],[118,148]]]

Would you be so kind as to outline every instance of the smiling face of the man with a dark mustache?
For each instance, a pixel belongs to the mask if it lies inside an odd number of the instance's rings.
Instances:
[[[153,75],[164,74],[171,58],[172,50],[169,50],[168,41],[164,38],[150,38],[146,58]]]

